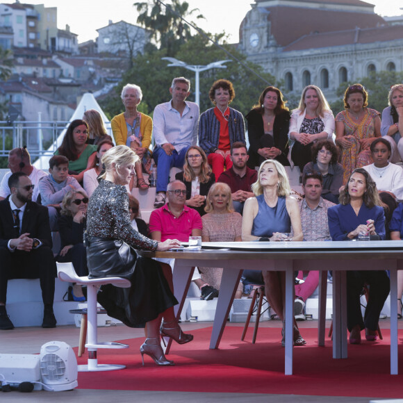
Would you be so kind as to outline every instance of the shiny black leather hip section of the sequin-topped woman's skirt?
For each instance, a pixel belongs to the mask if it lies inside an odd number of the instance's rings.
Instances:
[[[123,277],[131,279],[138,254],[123,240],[111,240],[85,234],[88,277]]]

